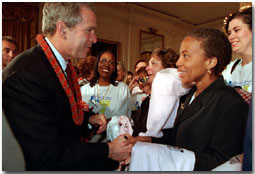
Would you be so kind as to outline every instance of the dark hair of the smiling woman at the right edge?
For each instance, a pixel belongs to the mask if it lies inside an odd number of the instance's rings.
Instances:
[[[249,26],[249,29],[252,31],[252,7],[249,7],[239,12],[230,14],[228,17],[225,18],[224,31],[226,34],[228,34],[228,27],[230,21],[236,18],[240,18],[243,21],[243,23],[247,24]]]

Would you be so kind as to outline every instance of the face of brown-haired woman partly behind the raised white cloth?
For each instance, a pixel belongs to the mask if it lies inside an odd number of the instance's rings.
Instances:
[[[164,67],[162,65],[162,61],[160,60],[160,58],[156,55],[152,55],[149,61],[149,65],[146,67],[149,76],[148,80],[149,84],[152,84],[153,79],[155,78],[157,72],[161,71],[162,69],[164,69]]]

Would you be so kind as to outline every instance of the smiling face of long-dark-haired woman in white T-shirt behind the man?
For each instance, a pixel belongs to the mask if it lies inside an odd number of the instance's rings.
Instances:
[[[104,52],[98,62],[98,73],[100,77],[111,79],[111,75],[115,70],[115,58],[112,53]]]

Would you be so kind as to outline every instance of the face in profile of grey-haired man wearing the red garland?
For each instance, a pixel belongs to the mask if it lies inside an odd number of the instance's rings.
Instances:
[[[66,29],[63,57],[86,58],[93,43],[97,42],[95,29],[96,14],[87,7],[81,8],[82,21],[72,28]]]

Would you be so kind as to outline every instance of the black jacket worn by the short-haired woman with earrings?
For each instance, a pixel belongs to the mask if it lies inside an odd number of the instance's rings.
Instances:
[[[241,96],[215,80],[189,105],[195,88],[184,96],[174,127],[153,142],[186,148],[195,153],[195,170],[211,170],[242,153],[248,105]]]

